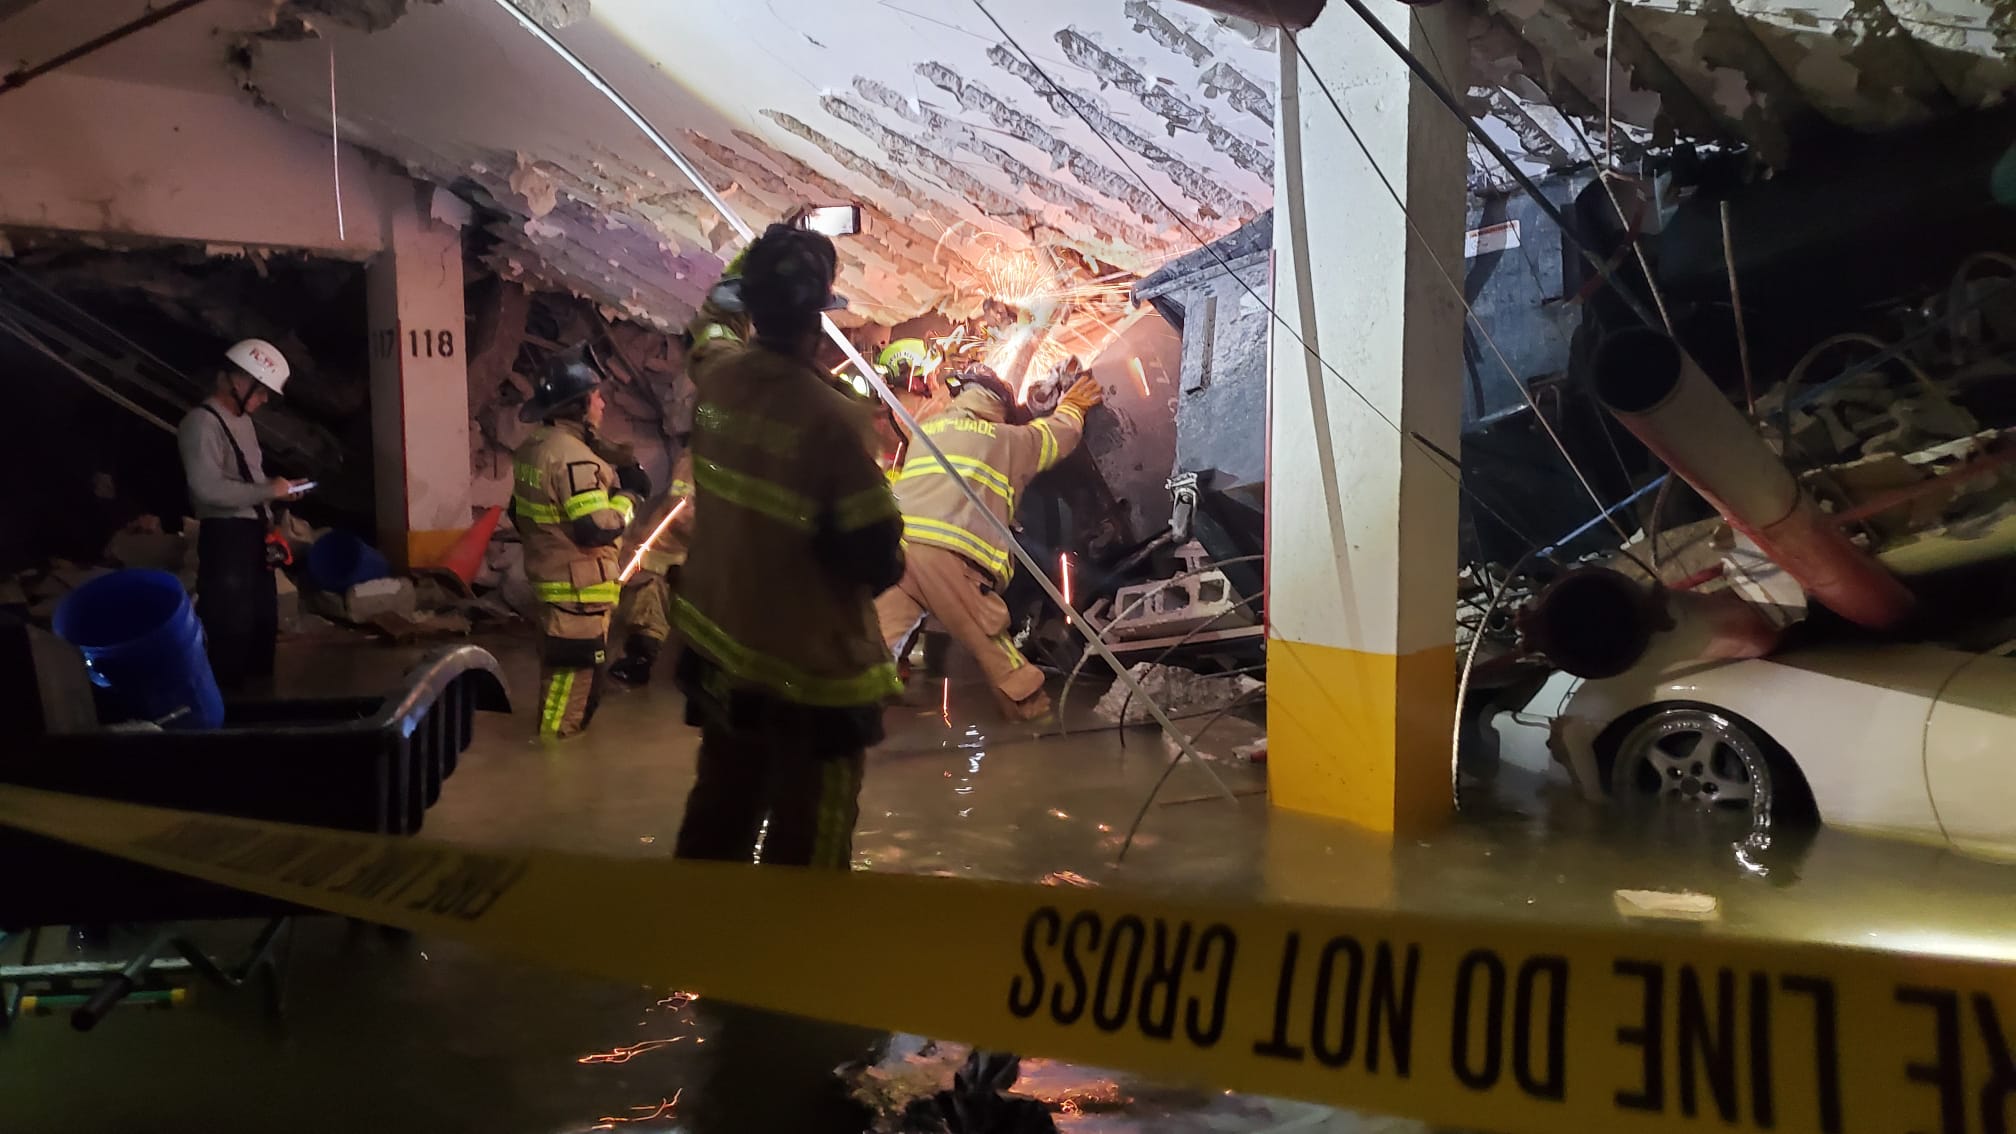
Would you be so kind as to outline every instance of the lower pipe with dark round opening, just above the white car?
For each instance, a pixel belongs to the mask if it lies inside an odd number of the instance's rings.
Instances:
[[[1734,591],[1669,591],[1611,571],[1568,571],[1518,615],[1532,650],[1579,678],[1633,666],[1762,658],[1780,630]]]

